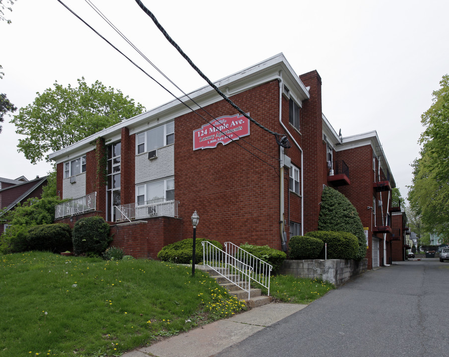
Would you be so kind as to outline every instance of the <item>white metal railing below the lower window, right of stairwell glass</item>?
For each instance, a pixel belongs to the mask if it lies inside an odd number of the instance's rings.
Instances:
[[[179,201],[159,198],[156,200],[114,206],[116,222],[131,221],[158,216],[178,217]]]

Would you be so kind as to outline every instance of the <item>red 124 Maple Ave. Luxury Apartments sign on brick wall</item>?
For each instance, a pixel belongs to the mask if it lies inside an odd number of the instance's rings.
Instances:
[[[193,130],[193,150],[215,148],[218,143],[226,145],[247,135],[250,135],[250,120],[245,116],[216,118]]]

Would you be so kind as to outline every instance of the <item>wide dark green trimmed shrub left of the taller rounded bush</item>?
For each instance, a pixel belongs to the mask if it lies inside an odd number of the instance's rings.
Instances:
[[[28,230],[30,250],[63,252],[72,249],[70,226],[63,223],[39,225]]]

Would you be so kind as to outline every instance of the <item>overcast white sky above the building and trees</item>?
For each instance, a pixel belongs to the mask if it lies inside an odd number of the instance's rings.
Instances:
[[[206,84],[134,0],[91,1],[184,91]],[[86,1],[63,2],[160,78]],[[212,81],[280,52],[297,74],[318,70],[326,118],[343,136],[377,130],[406,197],[421,114],[449,73],[449,1],[142,2]],[[12,9],[12,24],[0,23],[0,92],[16,107],[31,104],[55,80],[75,86],[82,76],[120,89],[147,110],[172,99],[57,0],[17,0]],[[31,165],[17,152],[19,136],[8,121],[0,134],[0,177],[45,176],[51,165]]]

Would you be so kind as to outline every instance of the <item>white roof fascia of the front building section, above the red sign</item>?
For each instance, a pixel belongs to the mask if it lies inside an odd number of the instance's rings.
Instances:
[[[298,99],[304,100],[310,98],[309,92],[304,86],[304,83],[301,82],[299,76],[293,71],[293,68],[290,66],[282,53],[254,64],[242,71],[222,78],[214,84],[227,96],[232,96],[244,90],[248,90],[257,85],[278,78],[280,73],[283,75],[283,80],[288,83],[287,86],[289,86],[290,91],[293,91]],[[222,99],[222,97],[208,85],[191,92],[189,97],[194,99],[195,102],[201,107]],[[198,109],[198,107],[186,96],[183,96],[180,99],[185,101],[186,104],[188,104],[193,110]],[[126,119],[104,130],[96,132],[95,134],[90,135],[61,150],[53,152],[49,155],[49,158],[50,160],[55,160],[57,163],[62,162],[67,158],[75,157],[75,152],[79,155],[80,153],[85,153],[92,150],[92,143],[94,143],[98,137],[103,137],[107,141],[120,140],[121,129],[123,127],[128,127],[131,134],[138,131],[147,130],[150,124],[160,125],[190,112],[191,109],[180,103],[178,99],[174,99],[145,113]]]

